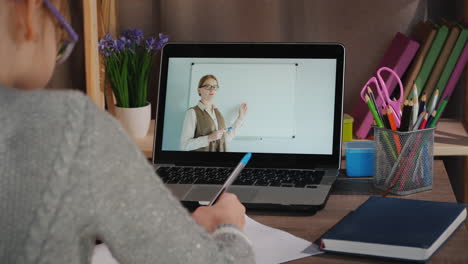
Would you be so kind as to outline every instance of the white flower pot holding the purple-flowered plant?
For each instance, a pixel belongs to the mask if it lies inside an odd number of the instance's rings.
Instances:
[[[115,117],[132,138],[145,137],[151,122],[151,104],[136,108],[115,106]]]

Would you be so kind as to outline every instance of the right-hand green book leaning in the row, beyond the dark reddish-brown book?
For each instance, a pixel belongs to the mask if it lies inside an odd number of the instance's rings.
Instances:
[[[444,99],[442,98],[442,94],[444,93],[445,86],[447,86],[447,82],[450,78],[450,75],[452,75],[455,64],[457,64],[458,58],[460,58],[461,52],[465,47],[466,41],[468,40],[468,29],[462,25],[458,25],[458,27],[461,29],[460,35],[457,38],[457,42],[455,42],[455,46],[453,46],[452,52],[450,53],[447,63],[445,64],[444,70],[440,74],[439,81],[436,84],[436,89],[439,89],[439,94],[441,95],[439,97],[439,101]]]

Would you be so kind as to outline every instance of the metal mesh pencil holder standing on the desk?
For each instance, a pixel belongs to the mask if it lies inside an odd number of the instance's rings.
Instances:
[[[374,127],[374,186],[396,195],[431,190],[434,130],[399,132]]]

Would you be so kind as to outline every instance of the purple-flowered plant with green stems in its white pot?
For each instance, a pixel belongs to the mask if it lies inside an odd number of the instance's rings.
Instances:
[[[151,122],[151,104],[147,89],[154,56],[161,50],[168,36],[159,34],[144,38],[139,29],[129,29],[114,39],[107,34],[99,42],[104,56],[106,76],[116,99],[115,115],[133,138],[148,133]]]

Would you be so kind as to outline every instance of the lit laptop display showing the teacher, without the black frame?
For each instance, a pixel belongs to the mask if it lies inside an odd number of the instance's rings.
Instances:
[[[169,58],[162,150],[332,154],[336,65]]]

